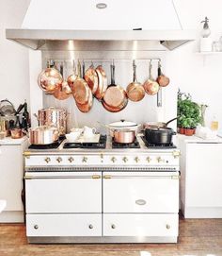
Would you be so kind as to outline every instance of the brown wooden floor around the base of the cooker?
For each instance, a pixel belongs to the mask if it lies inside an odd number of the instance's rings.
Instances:
[[[0,256],[222,256],[222,219],[181,219],[178,244],[29,245],[22,224],[0,225]]]

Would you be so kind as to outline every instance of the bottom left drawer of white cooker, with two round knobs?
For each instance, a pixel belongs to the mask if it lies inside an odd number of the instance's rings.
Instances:
[[[101,236],[101,214],[26,214],[27,236]]]

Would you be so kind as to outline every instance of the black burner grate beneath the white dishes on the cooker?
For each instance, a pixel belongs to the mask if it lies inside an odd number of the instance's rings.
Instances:
[[[105,145],[106,135],[101,135],[98,143],[65,143],[63,148],[105,148]]]

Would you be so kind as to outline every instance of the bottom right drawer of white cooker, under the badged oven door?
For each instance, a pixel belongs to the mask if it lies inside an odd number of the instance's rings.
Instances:
[[[103,214],[104,236],[178,236],[178,214]]]

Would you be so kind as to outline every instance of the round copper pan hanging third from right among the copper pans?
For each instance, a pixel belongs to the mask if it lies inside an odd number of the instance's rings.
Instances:
[[[145,90],[144,90],[142,84],[137,82],[135,60],[133,61],[133,70],[134,70],[133,82],[127,86],[126,92],[127,92],[128,98],[130,100],[140,101],[145,96]]]

